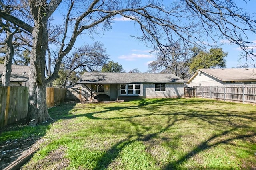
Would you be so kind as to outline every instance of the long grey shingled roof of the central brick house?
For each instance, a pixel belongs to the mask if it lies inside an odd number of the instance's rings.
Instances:
[[[86,72],[78,84],[184,83],[174,74]]]

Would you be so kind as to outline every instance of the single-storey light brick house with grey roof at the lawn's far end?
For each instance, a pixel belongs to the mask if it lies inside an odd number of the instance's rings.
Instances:
[[[181,98],[185,82],[174,74],[102,72],[86,72],[78,80],[86,101]]]

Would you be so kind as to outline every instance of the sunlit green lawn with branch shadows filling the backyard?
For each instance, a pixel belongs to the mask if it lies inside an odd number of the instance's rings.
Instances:
[[[61,104],[49,113],[56,122],[34,127],[44,129],[44,142],[23,169],[256,168],[253,105],[147,99]],[[0,140],[8,140],[9,133],[27,135],[19,129],[2,133]]]

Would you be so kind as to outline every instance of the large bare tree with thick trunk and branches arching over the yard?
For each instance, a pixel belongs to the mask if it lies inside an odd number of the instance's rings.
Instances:
[[[2,1],[1,1],[2,2]],[[20,0],[20,2],[23,2]],[[152,44],[157,49],[172,46],[182,39],[185,46],[204,41],[211,44],[219,39],[228,39],[241,47],[244,57],[252,57],[254,42],[246,40],[246,33],[256,33],[256,20],[230,0],[183,0],[183,1],[138,1],[127,0],[24,0],[28,4],[34,23],[18,18],[16,13],[0,11],[0,17],[32,33],[30,57],[30,87],[28,122],[36,125],[51,120],[46,108],[46,84],[58,77],[62,59],[74,46],[82,33],[92,36],[111,28],[115,16],[121,15],[139,25],[142,34],[136,38]],[[63,5],[60,6],[60,4]],[[64,5],[68,3],[68,5]],[[56,8],[68,7],[65,14],[63,38],[52,75],[46,80],[45,55],[48,48],[48,19]],[[83,8],[81,8],[83,7]],[[10,6],[11,8],[11,6]],[[23,14],[22,14],[23,15]],[[101,27],[102,29],[97,29]],[[70,33],[70,36],[67,36]]]

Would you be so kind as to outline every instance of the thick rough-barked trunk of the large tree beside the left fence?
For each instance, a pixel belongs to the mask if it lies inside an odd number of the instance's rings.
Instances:
[[[33,42],[30,55],[29,106],[27,123],[34,126],[52,121],[46,106],[45,55],[48,47],[47,19],[42,8],[38,9],[33,29]]]

